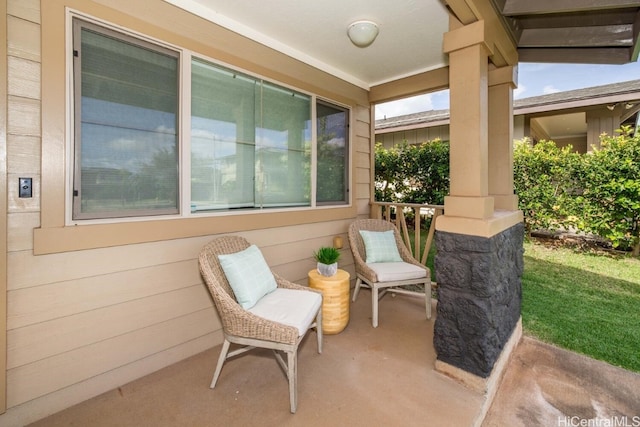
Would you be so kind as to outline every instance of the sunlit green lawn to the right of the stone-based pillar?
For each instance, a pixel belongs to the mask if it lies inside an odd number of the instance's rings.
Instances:
[[[640,259],[525,243],[524,331],[640,372]]]

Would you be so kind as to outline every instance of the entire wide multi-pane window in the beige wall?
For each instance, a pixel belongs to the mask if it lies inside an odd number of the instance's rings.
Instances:
[[[348,109],[80,19],[73,29],[73,220],[348,203]]]

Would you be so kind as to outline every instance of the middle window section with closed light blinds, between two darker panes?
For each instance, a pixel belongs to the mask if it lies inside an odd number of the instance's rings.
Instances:
[[[309,206],[311,97],[192,61],[191,210]]]

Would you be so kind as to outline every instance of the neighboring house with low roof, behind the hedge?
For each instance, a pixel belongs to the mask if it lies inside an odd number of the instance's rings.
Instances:
[[[534,96],[513,103],[513,138],[552,140],[585,153],[621,125],[638,126],[640,80]],[[449,139],[449,110],[376,120],[376,141],[385,147]]]

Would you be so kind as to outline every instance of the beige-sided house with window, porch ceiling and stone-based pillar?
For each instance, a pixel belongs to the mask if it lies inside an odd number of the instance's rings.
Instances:
[[[637,2],[563,3],[0,0],[0,425],[220,344],[197,261],[216,236],[306,283],[313,251],[371,215],[372,105],[447,87],[436,236],[461,280],[438,280],[436,368],[487,391],[520,331],[517,63],[638,57]],[[363,17],[367,48],[346,35]]]

